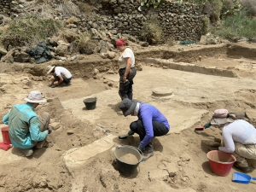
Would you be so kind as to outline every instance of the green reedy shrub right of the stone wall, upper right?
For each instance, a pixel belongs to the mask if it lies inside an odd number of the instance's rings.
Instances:
[[[235,15],[226,17],[221,27],[215,32],[221,37],[230,39],[237,38],[256,38],[256,20],[252,20],[247,16],[247,12],[242,10]]]

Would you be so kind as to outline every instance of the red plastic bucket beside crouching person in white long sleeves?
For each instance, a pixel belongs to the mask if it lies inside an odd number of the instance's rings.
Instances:
[[[213,150],[207,153],[212,172],[219,176],[229,175],[232,166],[236,162],[236,157],[222,151]]]

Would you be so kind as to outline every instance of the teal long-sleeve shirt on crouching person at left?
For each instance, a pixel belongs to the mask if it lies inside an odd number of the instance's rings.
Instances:
[[[41,123],[31,104],[15,105],[3,116],[3,123],[9,125],[9,137],[15,148],[32,148],[48,136],[41,132]]]

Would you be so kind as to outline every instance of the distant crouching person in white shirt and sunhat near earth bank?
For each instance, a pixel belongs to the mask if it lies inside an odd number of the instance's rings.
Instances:
[[[62,84],[70,84],[72,74],[65,67],[48,66],[47,74],[51,73],[53,76],[50,79],[50,87],[60,86]]]

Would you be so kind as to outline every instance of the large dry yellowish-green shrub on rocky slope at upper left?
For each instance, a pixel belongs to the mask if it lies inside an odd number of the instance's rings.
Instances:
[[[37,16],[11,20],[9,27],[0,32],[0,42],[5,46],[33,46],[58,32],[61,23]]]

